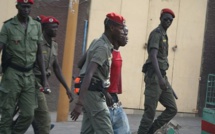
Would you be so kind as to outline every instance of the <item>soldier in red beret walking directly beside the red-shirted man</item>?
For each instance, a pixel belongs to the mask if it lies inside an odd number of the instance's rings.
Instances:
[[[110,85],[113,43],[124,34],[124,25],[123,16],[113,12],[108,13],[104,21],[104,33],[90,44],[83,56],[84,60],[81,60],[82,66],[79,67],[82,84],[78,101],[71,112],[71,118],[76,120],[83,108],[81,134],[113,134],[105,97]]]

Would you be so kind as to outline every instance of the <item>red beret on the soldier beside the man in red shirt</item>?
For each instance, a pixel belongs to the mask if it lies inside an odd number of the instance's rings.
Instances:
[[[111,12],[106,15],[106,17],[120,25],[125,25],[125,18],[122,15]]]

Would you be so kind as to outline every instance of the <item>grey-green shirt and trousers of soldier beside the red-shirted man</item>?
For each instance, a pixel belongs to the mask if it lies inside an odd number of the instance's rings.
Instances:
[[[90,62],[95,62],[99,66],[92,77],[92,87],[88,88],[84,99],[81,134],[113,134],[110,112],[105,96],[101,91],[93,89],[97,81],[102,81],[102,83],[108,83],[109,81],[112,49],[112,44],[103,34],[101,38],[91,43],[87,51],[87,58],[80,75],[83,76],[85,74]],[[94,83],[92,84],[92,82]]]

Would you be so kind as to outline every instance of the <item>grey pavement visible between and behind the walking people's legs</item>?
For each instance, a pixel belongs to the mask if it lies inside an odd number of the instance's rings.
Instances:
[[[126,111],[126,110],[125,110]],[[142,110],[138,113],[127,112],[131,132],[136,132],[142,117]],[[160,113],[158,112],[157,115]],[[52,123],[55,127],[50,134],[80,134],[82,115],[77,121],[72,121],[68,116],[67,122],[56,122],[57,113],[51,112]],[[201,117],[196,117],[193,114],[178,113],[172,120],[181,126],[179,134],[201,134]],[[32,127],[25,134],[34,134]]]

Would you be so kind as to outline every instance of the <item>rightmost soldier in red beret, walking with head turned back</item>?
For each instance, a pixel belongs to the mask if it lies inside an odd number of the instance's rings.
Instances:
[[[145,73],[145,108],[138,134],[153,134],[177,114],[173,89],[166,76],[169,67],[166,31],[174,18],[171,9],[162,9],[160,25],[150,33],[148,39],[148,59],[142,70]],[[166,109],[154,120],[158,102]]]

